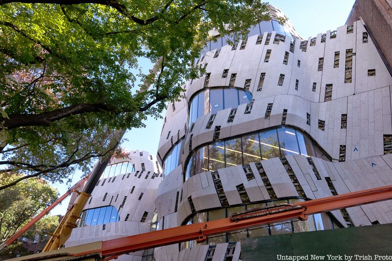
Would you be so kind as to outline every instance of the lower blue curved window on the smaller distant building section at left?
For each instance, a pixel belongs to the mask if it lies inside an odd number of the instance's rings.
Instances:
[[[88,209],[82,212],[79,227],[107,224],[117,222],[119,220],[119,212],[113,206]]]

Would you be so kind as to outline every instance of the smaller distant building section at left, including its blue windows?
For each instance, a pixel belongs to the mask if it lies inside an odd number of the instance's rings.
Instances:
[[[66,247],[155,231],[159,226],[154,200],[162,169],[156,157],[141,150],[122,156],[113,158],[102,173]],[[118,260],[151,260],[152,256],[152,250],[145,250]]]

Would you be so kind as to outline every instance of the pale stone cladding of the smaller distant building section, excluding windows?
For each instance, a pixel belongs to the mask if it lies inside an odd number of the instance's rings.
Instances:
[[[117,175],[111,179],[101,178],[92,192],[91,201],[87,202],[84,207],[84,210],[86,210],[108,205],[114,206],[119,212],[120,220],[105,224],[105,229],[103,229],[102,224],[74,228],[71,237],[66,242],[66,247],[150,231],[152,217],[155,212],[156,191],[162,180],[162,169],[159,165],[157,166],[157,159],[154,155],[141,150],[131,151],[124,158],[113,158],[110,164],[125,161],[134,164],[136,171]],[[145,171],[142,171],[142,164],[145,165]],[[135,188],[132,190],[133,187]],[[141,193],[143,193],[143,196],[139,200]],[[127,198],[123,207],[121,207],[125,196]],[[141,222],[145,212],[148,212],[147,218],[145,222]],[[127,220],[124,221],[128,214]],[[129,255],[122,255],[118,260],[141,261],[143,253],[144,251],[138,251]]]

